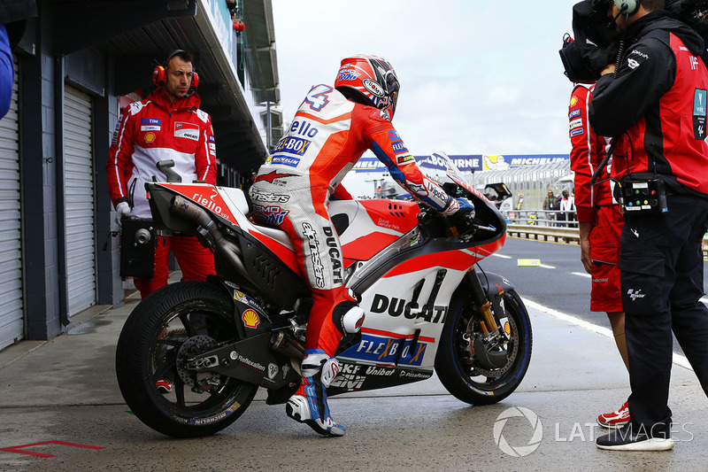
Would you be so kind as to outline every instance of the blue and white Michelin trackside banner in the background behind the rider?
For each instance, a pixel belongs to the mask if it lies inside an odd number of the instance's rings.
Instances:
[[[415,156],[418,165],[423,168],[445,170],[442,161],[435,156]],[[461,172],[481,172],[484,170],[506,170],[515,167],[539,166],[558,160],[568,160],[568,154],[472,154],[451,155],[450,159]],[[375,156],[363,156],[354,165],[355,172],[389,172],[386,166]]]

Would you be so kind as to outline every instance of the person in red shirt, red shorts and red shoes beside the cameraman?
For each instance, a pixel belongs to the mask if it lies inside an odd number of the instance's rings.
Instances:
[[[606,155],[610,138],[597,135],[590,128],[588,110],[594,84],[578,83],[573,88],[568,107],[570,120],[570,167],[575,173],[575,208],[578,214],[581,262],[592,277],[590,311],[605,312],[610,319],[615,344],[627,366],[625,313],[620,293],[620,235],[624,218],[620,205],[612,197],[610,180],[612,159],[596,178],[590,178]],[[617,411],[600,414],[597,422],[606,428],[619,428],[629,421],[627,402]]]

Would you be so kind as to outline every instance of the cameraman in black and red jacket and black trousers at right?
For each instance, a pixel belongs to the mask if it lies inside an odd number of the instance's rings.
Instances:
[[[606,66],[589,109],[591,126],[619,140],[612,176],[637,173],[666,185],[667,211],[627,212],[620,286],[626,313],[631,420],[597,447],[673,448],[668,388],[673,329],[708,392],[708,308],[701,242],[708,227],[708,70],[696,32],[672,19],[664,0],[615,0],[608,16],[623,34],[619,66]]]

